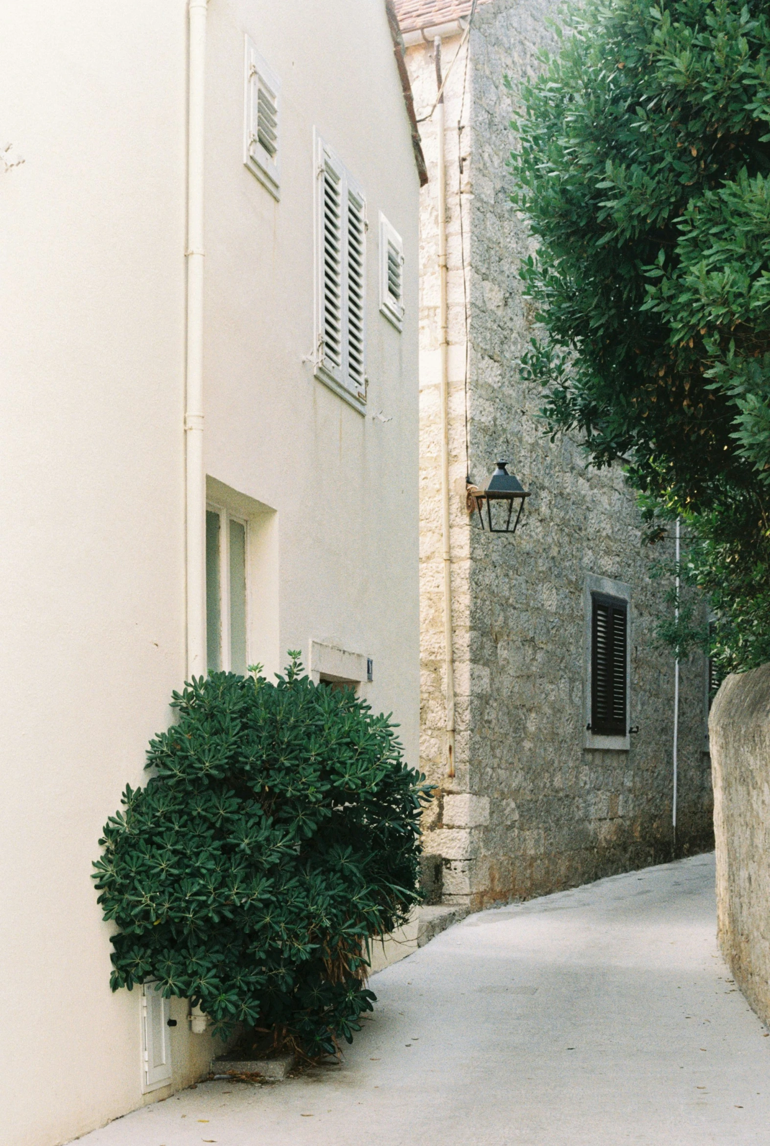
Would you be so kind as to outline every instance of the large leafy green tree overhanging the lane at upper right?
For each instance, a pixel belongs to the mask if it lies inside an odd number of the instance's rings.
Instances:
[[[522,370],[552,433],[623,462],[651,537],[683,519],[715,652],[753,667],[770,659],[768,6],[589,0],[559,34],[514,124],[539,241]]]

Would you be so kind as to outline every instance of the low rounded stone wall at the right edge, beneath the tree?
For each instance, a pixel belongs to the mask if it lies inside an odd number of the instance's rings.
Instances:
[[[736,982],[770,1025],[770,665],[729,676],[708,727],[717,936]]]

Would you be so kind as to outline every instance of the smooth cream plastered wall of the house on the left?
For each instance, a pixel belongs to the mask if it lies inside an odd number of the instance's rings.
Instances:
[[[283,84],[280,204],[243,165],[246,32]],[[364,690],[416,762],[418,183],[384,8],[211,0],[209,33],[205,449],[261,513],[250,654],[372,657]],[[184,674],[186,3],[11,6],[0,109],[25,158],[0,174],[2,1137],[53,1146],[144,1100],[139,991],[109,990],[89,873]],[[301,361],[314,126],[368,194],[366,417]],[[379,210],[402,335],[377,308]],[[173,1013],[181,1085],[211,1051]]]

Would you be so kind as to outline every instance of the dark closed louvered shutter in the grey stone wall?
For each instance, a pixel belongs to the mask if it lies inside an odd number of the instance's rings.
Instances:
[[[591,731],[626,736],[628,602],[603,594],[591,598]]]

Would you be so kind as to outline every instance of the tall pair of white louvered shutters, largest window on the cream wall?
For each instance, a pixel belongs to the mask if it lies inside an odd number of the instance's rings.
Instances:
[[[316,375],[361,408],[367,397],[367,204],[322,140],[316,156]]]

